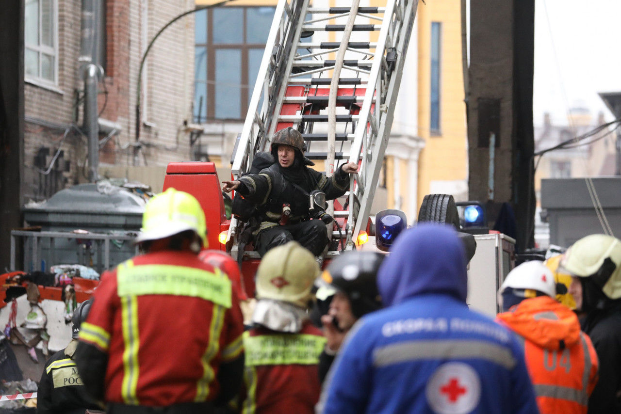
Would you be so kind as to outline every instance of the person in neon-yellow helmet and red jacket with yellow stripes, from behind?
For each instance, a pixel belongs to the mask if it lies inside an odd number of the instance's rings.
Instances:
[[[75,360],[111,413],[210,413],[238,393],[242,312],[231,282],[197,254],[205,215],[168,189],[147,203],[146,254],[104,272]]]

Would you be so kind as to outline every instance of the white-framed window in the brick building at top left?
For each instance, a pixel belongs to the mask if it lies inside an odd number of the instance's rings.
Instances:
[[[57,84],[57,0],[25,0],[24,16],[25,77]]]

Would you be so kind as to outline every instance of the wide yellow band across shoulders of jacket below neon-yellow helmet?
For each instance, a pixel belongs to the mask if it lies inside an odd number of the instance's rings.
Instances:
[[[201,269],[168,264],[143,264],[117,268],[118,294],[126,295],[178,295],[200,297],[226,308],[231,307],[231,283]]]

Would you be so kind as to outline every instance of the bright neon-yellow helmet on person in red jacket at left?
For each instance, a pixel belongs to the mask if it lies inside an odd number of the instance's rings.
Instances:
[[[169,188],[148,200],[142,215],[142,228],[136,243],[157,240],[193,230],[208,246],[205,213],[191,194]]]

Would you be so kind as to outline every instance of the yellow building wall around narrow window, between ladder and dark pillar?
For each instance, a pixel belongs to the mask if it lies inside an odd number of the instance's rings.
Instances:
[[[425,140],[419,158],[419,204],[433,180],[468,178],[466,107],[461,66],[459,0],[419,1],[418,20],[418,135]],[[430,133],[431,24],[440,30],[440,133]],[[417,206],[418,209],[419,206]]]

